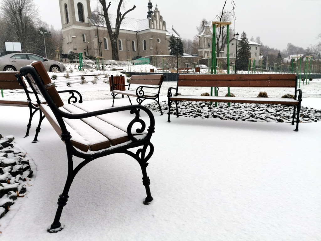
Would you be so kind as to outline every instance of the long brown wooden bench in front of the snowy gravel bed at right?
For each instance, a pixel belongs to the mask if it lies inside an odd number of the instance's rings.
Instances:
[[[231,96],[195,96],[195,95],[178,95],[179,87],[279,87],[294,89],[294,99],[287,98],[260,98],[260,97],[231,97]],[[172,94],[171,90],[175,89],[176,93]],[[297,92],[299,96],[297,99]],[[181,94],[181,93],[180,93]],[[299,130],[299,113],[301,109],[302,92],[297,90],[297,76],[295,74],[231,74],[231,75],[210,75],[194,74],[179,75],[177,87],[168,89],[168,121],[170,122],[171,103],[176,104],[176,115],[178,117],[178,101],[203,101],[203,102],[228,102],[228,103],[260,103],[260,104],[287,104],[294,105],[292,125],[296,108],[297,120],[296,129]]]

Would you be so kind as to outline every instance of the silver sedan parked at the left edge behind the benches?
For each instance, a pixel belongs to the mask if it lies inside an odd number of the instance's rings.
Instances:
[[[66,67],[55,60],[43,58],[36,54],[16,53],[0,57],[0,71],[19,71],[21,67],[30,65],[33,61],[40,60],[49,72],[64,72]]]

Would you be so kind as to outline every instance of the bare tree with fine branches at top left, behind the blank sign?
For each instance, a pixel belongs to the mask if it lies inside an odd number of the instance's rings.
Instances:
[[[4,21],[12,31],[14,41],[21,42],[22,50],[28,49],[28,35],[34,29],[38,8],[33,0],[2,0],[0,10]]]

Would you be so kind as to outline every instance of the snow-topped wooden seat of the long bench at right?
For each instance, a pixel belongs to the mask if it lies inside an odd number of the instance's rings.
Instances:
[[[288,98],[260,98],[260,97],[225,97],[225,96],[194,96],[178,95],[171,96],[173,101],[212,101],[212,102],[231,102],[231,103],[260,103],[260,104],[295,104],[299,102]]]

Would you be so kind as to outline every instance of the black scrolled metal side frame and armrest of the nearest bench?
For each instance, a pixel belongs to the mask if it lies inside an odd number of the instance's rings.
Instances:
[[[155,120],[152,112],[148,108],[142,105],[130,105],[130,106],[105,109],[101,111],[86,112],[82,114],[66,113],[58,109],[55,101],[53,100],[53,97],[51,96],[53,94],[48,93],[46,86],[44,85],[44,82],[43,82],[43,79],[46,76],[41,76],[41,75],[39,76],[39,71],[38,70],[36,71],[31,66],[22,67],[20,69],[20,74],[26,77],[35,95],[37,96],[38,94],[41,94],[47,101],[47,105],[50,107],[51,111],[55,115],[56,121],[58,122],[59,127],[62,131],[61,139],[62,141],[64,141],[66,145],[66,152],[67,152],[67,158],[68,158],[68,175],[67,175],[64,190],[58,199],[58,203],[57,203],[58,208],[56,211],[55,219],[51,224],[51,226],[48,228],[49,233],[58,232],[64,228],[64,226],[61,225],[60,223],[60,217],[61,217],[62,210],[68,200],[68,192],[76,174],[86,164],[102,156],[108,156],[115,153],[125,153],[133,157],[139,163],[143,174],[143,185],[145,186],[145,190],[147,194],[147,197],[143,203],[148,204],[150,201],[152,201],[153,198],[151,196],[151,192],[149,188],[150,179],[147,176],[146,167],[148,165],[147,161],[151,158],[154,151],[154,147],[150,139],[155,129],[154,128]],[[63,118],[66,118],[66,119],[77,120],[77,119],[99,116],[99,115],[108,114],[108,113],[123,112],[128,110],[130,110],[131,114],[134,114],[134,118],[132,119],[132,121],[130,121],[130,123],[127,126],[127,134],[128,134],[129,141],[126,143],[122,143],[121,145],[114,146],[113,148],[105,148],[99,151],[84,152],[79,150],[78,148],[75,148],[70,140],[71,135],[70,135],[70,132],[67,131],[66,124],[63,119]],[[133,132],[132,128],[135,123],[139,123],[141,125],[141,128],[136,129],[136,132],[142,133],[146,129],[145,122],[142,119],[140,119],[141,111],[145,112],[148,115],[150,120],[150,126],[148,127],[147,134],[144,136],[144,138],[135,138],[134,135],[132,134]],[[141,148],[139,148],[136,151],[136,153],[134,153],[129,150],[130,148],[134,148],[134,147],[141,147]],[[148,147],[149,147],[149,151],[148,151]],[[83,161],[80,164],[78,164],[75,168],[73,165],[73,156],[77,156],[83,159]]]

